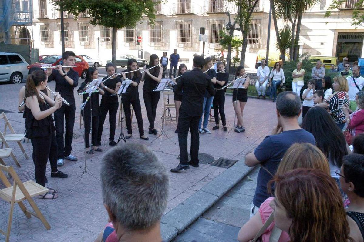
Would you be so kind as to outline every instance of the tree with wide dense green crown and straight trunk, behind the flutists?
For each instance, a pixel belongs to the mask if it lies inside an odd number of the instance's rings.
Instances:
[[[116,36],[120,28],[134,27],[146,16],[155,19],[153,0],[51,0],[74,16],[88,11],[90,23],[112,29],[112,63],[116,65]]]

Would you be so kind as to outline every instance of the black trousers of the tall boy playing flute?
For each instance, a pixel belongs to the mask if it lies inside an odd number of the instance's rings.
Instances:
[[[73,127],[75,125],[75,104],[70,106],[62,105],[62,107],[54,112],[54,122],[56,126],[56,138],[58,151],[58,159],[64,159],[72,151]],[[66,120],[66,134],[63,139],[63,126]]]

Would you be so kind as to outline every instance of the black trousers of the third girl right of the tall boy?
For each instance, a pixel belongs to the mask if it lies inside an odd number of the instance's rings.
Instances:
[[[132,134],[131,110],[130,110],[130,105],[132,105],[134,108],[135,116],[137,117],[139,136],[143,136],[144,135],[143,116],[142,116],[142,107],[140,106],[139,98],[134,99],[134,100],[130,100],[128,98],[123,98],[122,103],[123,103],[123,107],[124,107],[125,123],[126,123],[126,129],[128,130],[128,134]]]

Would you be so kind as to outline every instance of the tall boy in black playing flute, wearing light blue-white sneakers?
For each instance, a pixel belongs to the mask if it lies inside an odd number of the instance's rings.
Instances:
[[[74,66],[76,55],[72,51],[65,51],[62,54],[63,66]],[[56,139],[58,145],[57,166],[63,166],[64,159],[77,161],[77,158],[71,154],[73,127],[75,125],[75,96],[73,90],[78,86],[78,73],[71,67],[62,68],[58,65],[52,70],[47,68],[48,82],[54,80],[56,82],[55,91],[70,104],[70,106],[62,105],[61,108],[54,112],[54,121],[56,125]],[[63,126],[66,120],[66,135],[63,139]]]

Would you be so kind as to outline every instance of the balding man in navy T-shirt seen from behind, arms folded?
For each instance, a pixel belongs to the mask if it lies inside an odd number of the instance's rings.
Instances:
[[[258,211],[258,208],[270,197],[267,191],[267,183],[276,173],[277,167],[284,153],[294,143],[311,143],[315,145],[312,134],[305,131],[298,124],[301,114],[301,99],[294,92],[281,92],[277,96],[276,103],[277,125],[273,127],[271,135],[268,135],[245,156],[245,164],[249,167],[260,164],[257,178],[257,188],[250,207],[250,217]]]

